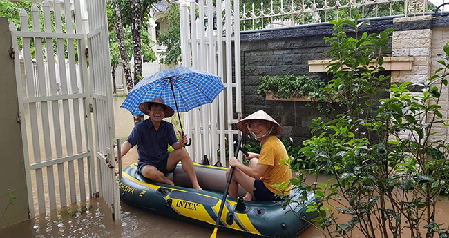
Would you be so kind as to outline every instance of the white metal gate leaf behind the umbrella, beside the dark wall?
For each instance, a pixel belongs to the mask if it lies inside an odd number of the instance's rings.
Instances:
[[[190,12],[187,2],[180,6],[182,64],[220,76],[226,88],[213,103],[187,112],[186,131],[188,137],[193,138],[193,146],[187,149],[190,155],[195,155],[193,160],[196,162],[208,155],[212,163],[220,161],[225,165],[226,143],[229,155],[233,155],[233,136],[238,134],[238,130],[233,130],[233,124],[242,116],[240,3],[234,0],[232,8],[230,0],[225,0],[224,3],[216,1],[215,9],[212,0],[207,0],[207,6],[204,6],[204,0],[199,0],[198,3],[190,0],[189,4]],[[199,12],[198,18],[195,16],[196,9]],[[205,13],[210,19],[207,30],[204,30]],[[212,16],[216,16],[216,30],[213,30]]]

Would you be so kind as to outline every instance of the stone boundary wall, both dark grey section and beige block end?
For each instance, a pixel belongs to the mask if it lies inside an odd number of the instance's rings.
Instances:
[[[414,57],[412,70],[392,71],[392,83],[412,81],[423,82],[437,68],[437,52],[449,39],[449,17],[384,17],[370,19],[370,26],[362,29],[380,32],[394,28],[392,57]],[[308,26],[279,28],[275,30],[254,30],[241,32],[242,62],[242,117],[265,110],[280,123],[284,132],[280,137],[292,137],[295,143],[310,137],[309,126],[312,119],[321,117],[314,106],[306,106],[300,101],[267,101],[257,94],[260,76],[263,75],[307,75],[329,77],[325,72],[309,72],[307,61],[329,59],[326,56],[329,46],[324,37],[333,32],[332,25],[320,23]],[[385,72],[388,74],[388,72]],[[448,94],[444,94],[446,110]],[[444,114],[446,118],[446,113]]]

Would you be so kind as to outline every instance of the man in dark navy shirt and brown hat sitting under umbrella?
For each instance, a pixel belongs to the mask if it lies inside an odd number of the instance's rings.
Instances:
[[[139,109],[149,115],[149,119],[134,126],[131,135],[122,144],[122,156],[137,145],[139,172],[148,179],[169,185],[174,185],[173,181],[165,175],[173,172],[181,161],[182,170],[187,173],[193,188],[202,190],[196,178],[193,161],[183,148],[187,143],[187,136],[180,135],[178,141],[173,124],[163,120],[164,117],[173,116],[173,108],[166,105],[162,98],[155,97],[149,102],[141,103]],[[167,150],[169,144],[175,149],[170,153]]]

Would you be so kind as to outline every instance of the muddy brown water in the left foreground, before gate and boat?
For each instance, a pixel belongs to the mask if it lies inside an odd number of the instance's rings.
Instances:
[[[210,237],[213,229],[193,226],[122,204],[122,221],[111,219],[100,199],[91,205],[52,212],[0,230],[0,237]],[[222,233],[218,237],[235,237]]]

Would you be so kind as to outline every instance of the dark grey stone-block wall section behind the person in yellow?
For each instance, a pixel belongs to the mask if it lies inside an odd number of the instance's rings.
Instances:
[[[242,41],[242,110],[244,117],[265,110],[283,126],[283,137],[295,141],[309,137],[311,119],[319,116],[314,107],[300,101],[266,101],[257,94],[263,75],[309,75],[307,61],[323,59],[328,50],[323,35],[264,41]]]

